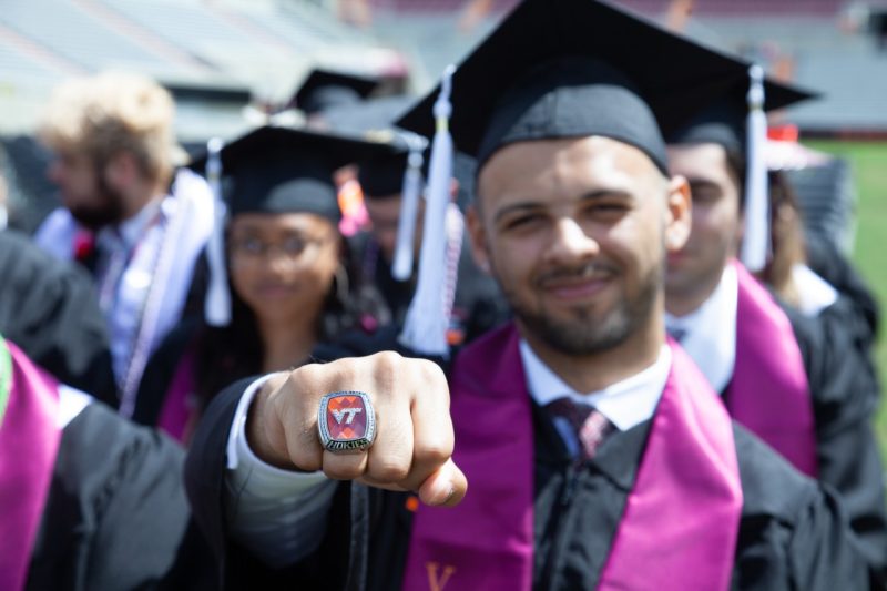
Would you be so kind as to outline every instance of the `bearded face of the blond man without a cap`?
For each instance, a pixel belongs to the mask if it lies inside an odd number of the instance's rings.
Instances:
[[[122,217],[122,196],[109,183],[104,167],[86,155],[58,152],[48,175],[59,186],[62,205],[86,227],[98,230]]]

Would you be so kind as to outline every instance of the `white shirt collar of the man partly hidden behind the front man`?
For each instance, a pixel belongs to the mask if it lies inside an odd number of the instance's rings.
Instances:
[[[702,306],[686,316],[665,314],[670,332],[683,332],[681,346],[690,354],[715,391],[724,391],[736,365],[736,268],[727,265],[721,282]]]

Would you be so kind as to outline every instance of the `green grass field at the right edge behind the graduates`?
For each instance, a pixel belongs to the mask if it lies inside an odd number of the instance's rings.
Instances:
[[[887,143],[807,142],[810,147],[850,161],[859,194],[854,261],[881,305],[887,302]],[[881,383],[887,379],[887,337],[881,327],[876,351]],[[884,388],[881,388],[884,389]],[[884,393],[881,393],[883,396]],[[887,405],[875,417],[881,458],[887,463]]]

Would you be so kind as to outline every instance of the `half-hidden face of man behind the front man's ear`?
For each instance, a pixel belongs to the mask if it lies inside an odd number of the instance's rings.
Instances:
[[[669,167],[690,183],[693,230],[686,246],[669,255],[666,304],[670,298],[704,300],[736,254],[742,233],[738,184],[717,144],[669,146]]]

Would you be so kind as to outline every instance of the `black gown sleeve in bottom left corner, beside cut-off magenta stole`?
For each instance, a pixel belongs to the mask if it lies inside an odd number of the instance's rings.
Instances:
[[[103,405],[62,431],[29,590],[214,589],[208,547],[190,520],[183,451]]]

